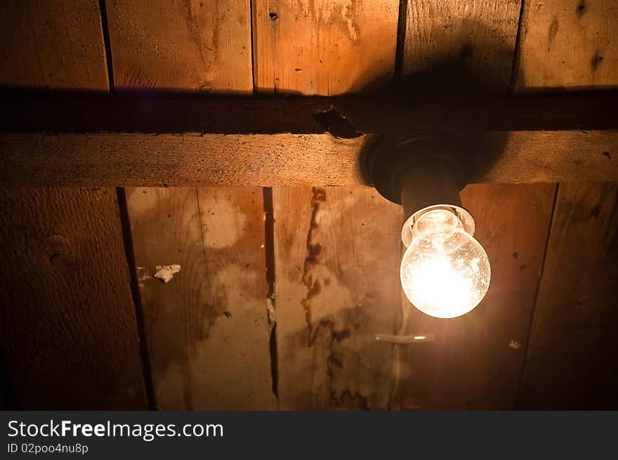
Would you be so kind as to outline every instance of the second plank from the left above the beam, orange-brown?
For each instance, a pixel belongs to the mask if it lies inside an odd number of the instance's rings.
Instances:
[[[107,1],[117,88],[250,92],[249,0]]]

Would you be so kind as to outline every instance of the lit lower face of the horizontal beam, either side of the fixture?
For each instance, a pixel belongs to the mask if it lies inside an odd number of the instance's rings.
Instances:
[[[0,135],[0,184],[209,186],[367,184],[359,157],[367,136],[330,134]],[[489,133],[479,161],[504,154],[479,183],[618,180],[618,131]],[[79,156],[74,155],[79,152]]]

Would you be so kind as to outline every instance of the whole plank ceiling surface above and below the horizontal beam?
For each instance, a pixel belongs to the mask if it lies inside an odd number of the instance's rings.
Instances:
[[[334,96],[436,60],[504,93],[618,86],[612,0],[4,10],[6,86]],[[447,93],[470,84],[439,81]],[[438,320],[400,294],[400,206],[362,185],[1,189],[2,404],[618,407],[618,185],[478,184],[461,198],[492,285],[472,313]],[[171,281],[154,277],[172,264]],[[435,340],[376,343],[383,333]]]

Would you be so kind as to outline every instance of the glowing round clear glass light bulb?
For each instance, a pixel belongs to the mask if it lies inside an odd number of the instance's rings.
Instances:
[[[485,249],[449,209],[422,213],[401,262],[401,284],[416,308],[438,318],[473,310],[489,288]]]

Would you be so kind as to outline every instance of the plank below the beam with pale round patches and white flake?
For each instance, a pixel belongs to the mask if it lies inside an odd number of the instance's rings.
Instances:
[[[160,409],[270,409],[261,188],[127,190]],[[159,265],[179,265],[169,282]]]

